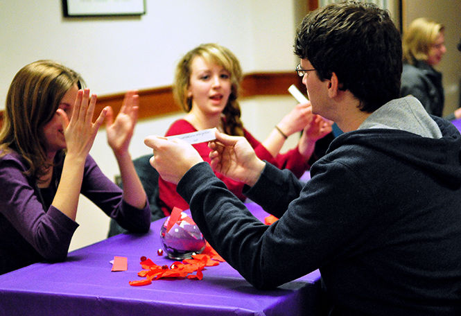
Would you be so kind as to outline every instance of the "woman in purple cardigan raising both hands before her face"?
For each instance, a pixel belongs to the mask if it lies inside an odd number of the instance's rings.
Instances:
[[[11,82],[0,132],[0,274],[67,257],[80,193],[125,229],[149,230],[146,193],[128,152],[138,96],[125,95],[115,120],[106,107],[93,123],[96,95],[82,85],[78,73],[51,60],[27,64]],[[89,156],[104,119],[123,191]]]

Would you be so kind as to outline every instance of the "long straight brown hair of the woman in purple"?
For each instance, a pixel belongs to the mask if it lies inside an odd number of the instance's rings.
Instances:
[[[83,80],[52,60],[27,64],[13,78],[0,131],[0,155],[14,150],[27,161],[26,175],[40,178],[46,168],[44,125],[53,119],[64,94]]]

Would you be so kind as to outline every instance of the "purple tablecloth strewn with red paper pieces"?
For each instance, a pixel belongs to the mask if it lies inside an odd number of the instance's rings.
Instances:
[[[247,204],[254,216],[267,216]],[[158,265],[159,229],[146,235],[121,234],[71,252],[63,263],[35,263],[0,276],[0,315],[317,315],[320,273],[312,272],[276,290],[253,288],[227,263],[207,267],[203,279],[161,279],[134,287],[142,279],[139,258]],[[277,256],[277,254],[274,254]],[[128,270],[111,272],[114,256],[128,257]]]

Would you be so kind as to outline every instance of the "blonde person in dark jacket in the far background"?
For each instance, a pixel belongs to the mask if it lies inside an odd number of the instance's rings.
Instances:
[[[434,69],[446,53],[444,26],[420,17],[411,22],[403,33],[403,72],[401,96],[411,94],[429,114],[442,117],[444,87],[442,73]],[[461,118],[461,108],[445,117],[449,121]]]

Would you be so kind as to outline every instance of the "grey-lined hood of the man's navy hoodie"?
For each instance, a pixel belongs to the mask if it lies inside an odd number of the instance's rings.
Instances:
[[[453,124],[429,116],[414,97],[393,100],[378,111],[358,130],[337,137],[329,152],[357,145],[410,164],[447,186],[461,186],[461,135]]]

